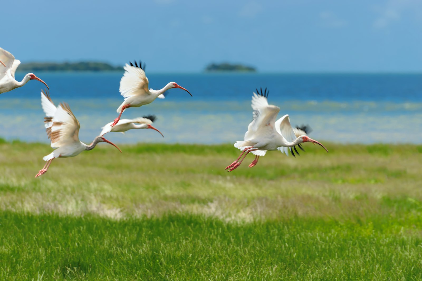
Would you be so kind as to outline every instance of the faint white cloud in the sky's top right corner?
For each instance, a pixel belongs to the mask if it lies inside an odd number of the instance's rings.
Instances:
[[[409,10],[422,8],[420,0],[388,0],[385,5],[377,6],[374,10],[379,16],[373,21],[372,27],[375,29],[385,29],[402,17],[402,13]]]

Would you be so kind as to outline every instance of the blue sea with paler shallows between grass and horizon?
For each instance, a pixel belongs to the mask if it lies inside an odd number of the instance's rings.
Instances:
[[[22,80],[25,73],[17,73]],[[35,73],[50,87],[56,105],[69,103],[81,123],[79,138],[90,143],[100,127],[117,117],[122,72]],[[255,88],[270,90],[268,101],[307,124],[316,140],[337,143],[422,143],[422,74],[149,74],[160,89],[175,81],[193,95],[171,89],[165,99],[127,109],[122,118],[155,114],[154,130],[108,133],[116,143],[234,143],[252,121]],[[48,143],[41,109],[43,84],[0,95],[0,137]]]

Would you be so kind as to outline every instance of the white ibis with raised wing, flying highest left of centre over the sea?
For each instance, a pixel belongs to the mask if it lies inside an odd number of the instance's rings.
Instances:
[[[145,64],[142,67],[141,61],[139,66],[135,61],[135,65],[132,63],[123,66],[125,72],[122,79],[120,80],[120,94],[124,97],[124,102],[117,109],[119,117],[114,119],[114,122],[110,125],[113,127],[119,122],[120,117],[125,109],[129,107],[139,107],[153,102],[156,98],[164,98],[165,91],[172,88],[180,88],[186,90],[184,87],[177,85],[176,82],[170,82],[165,85],[161,90],[148,89],[148,78],[145,76]],[[192,96],[191,93],[189,95]]]

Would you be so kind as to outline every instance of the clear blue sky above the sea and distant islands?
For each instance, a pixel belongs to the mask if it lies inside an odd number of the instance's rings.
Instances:
[[[151,72],[200,72],[222,61],[261,72],[422,72],[421,0],[1,5],[0,46],[22,62],[141,59]]]

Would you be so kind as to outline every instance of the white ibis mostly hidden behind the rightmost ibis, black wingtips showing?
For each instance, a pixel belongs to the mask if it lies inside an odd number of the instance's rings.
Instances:
[[[264,92],[262,92],[262,88],[260,89],[261,92],[258,91],[258,89],[256,89],[256,90],[257,90],[257,93],[253,93],[253,95],[252,95],[252,103],[251,103],[251,107],[254,110],[252,112],[253,119],[256,119],[257,118],[257,110],[258,110],[259,107],[268,106],[268,94],[270,93],[270,91],[267,91],[267,88],[265,88]],[[252,123],[253,123],[253,120],[249,124],[249,126],[251,126]],[[248,126],[248,129],[249,129],[249,126]],[[295,133],[296,138],[298,138],[301,135],[306,135],[307,136],[308,133],[310,133],[311,131],[312,131],[312,129],[311,129],[311,127],[309,127],[309,125],[302,125],[301,127],[299,127],[299,126],[293,127],[293,132]],[[243,139],[244,140],[248,140],[250,138],[249,137],[249,134],[250,133],[251,132],[249,132],[249,130],[248,130],[245,133],[245,137]],[[300,149],[302,149],[303,151],[305,151],[300,144],[298,144],[298,147]],[[293,148],[295,149],[296,154],[300,155],[299,152],[296,150],[296,148],[295,147],[293,147]],[[266,152],[267,152],[266,150],[255,150],[255,151],[252,151],[252,154],[255,155],[255,159],[254,159],[254,161],[252,161],[251,164],[249,164],[248,167],[249,168],[254,167],[258,163],[258,160],[259,160],[260,156],[265,156]],[[293,156],[295,156],[294,153],[293,153]]]

